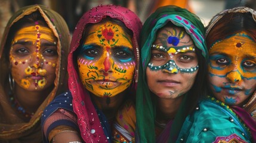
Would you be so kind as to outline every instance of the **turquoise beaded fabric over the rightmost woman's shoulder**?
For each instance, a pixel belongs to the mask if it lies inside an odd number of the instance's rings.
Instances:
[[[251,131],[232,107],[208,97],[186,118],[177,142],[218,142],[225,136],[230,141],[234,138],[252,142]]]

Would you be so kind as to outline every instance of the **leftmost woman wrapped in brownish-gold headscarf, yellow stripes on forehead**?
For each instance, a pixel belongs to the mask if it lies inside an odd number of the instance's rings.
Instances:
[[[66,22],[44,6],[10,18],[0,46],[0,142],[43,142],[42,111],[67,89],[69,43]]]

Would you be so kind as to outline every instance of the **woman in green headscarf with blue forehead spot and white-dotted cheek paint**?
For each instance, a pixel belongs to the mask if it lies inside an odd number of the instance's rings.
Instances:
[[[201,20],[172,5],[143,25],[136,95],[137,142],[174,142],[203,95],[206,46]]]

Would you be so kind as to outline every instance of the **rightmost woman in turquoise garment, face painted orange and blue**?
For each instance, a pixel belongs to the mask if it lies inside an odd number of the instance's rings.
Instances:
[[[184,122],[184,142],[256,142],[255,17],[251,8],[237,7],[209,23],[209,96]]]

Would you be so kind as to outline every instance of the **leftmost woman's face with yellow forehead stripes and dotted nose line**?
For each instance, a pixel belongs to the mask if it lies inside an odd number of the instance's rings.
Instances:
[[[57,63],[55,36],[48,27],[23,27],[16,32],[10,62],[14,80],[27,90],[41,90],[53,85]]]

